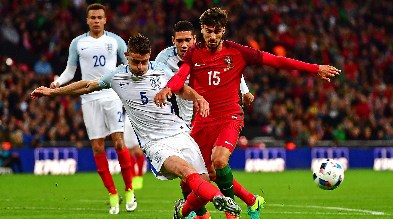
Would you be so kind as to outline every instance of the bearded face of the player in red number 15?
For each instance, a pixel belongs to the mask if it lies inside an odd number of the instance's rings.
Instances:
[[[222,35],[225,33],[225,27],[201,25],[200,33],[203,33],[203,39],[209,50],[219,51],[222,48]]]

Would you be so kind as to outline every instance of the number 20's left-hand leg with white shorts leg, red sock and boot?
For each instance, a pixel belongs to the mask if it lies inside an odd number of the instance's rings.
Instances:
[[[112,175],[109,171],[107,155],[105,154],[104,137],[107,136],[108,130],[103,119],[103,111],[104,109],[100,100],[88,101],[82,104],[83,121],[92,145],[97,172],[109,192],[111,205],[109,213],[118,214],[121,197],[116,191]]]

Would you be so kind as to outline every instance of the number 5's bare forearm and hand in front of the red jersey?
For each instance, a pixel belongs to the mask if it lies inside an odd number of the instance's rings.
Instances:
[[[210,115],[209,103],[203,96],[200,96],[194,89],[188,85],[183,85],[182,89],[174,92],[179,95],[183,100],[190,100],[194,102],[196,110],[199,111],[202,117],[208,117]]]

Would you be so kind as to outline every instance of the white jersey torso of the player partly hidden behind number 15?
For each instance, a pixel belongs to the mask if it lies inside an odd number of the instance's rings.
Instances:
[[[156,57],[156,61],[162,62],[167,65],[174,74],[179,71],[179,67],[177,63],[181,60],[176,52],[176,46],[171,46],[163,51],[161,51]],[[187,80],[185,80],[185,84],[189,85],[190,75],[187,76]],[[187,125],[191,124],[191,119],[193,117],[194,103],[193,101],[183,100],[179,96],[176,96],[176,102],[179,107],[179,116],[183,118],[183,121],[187,123]]]

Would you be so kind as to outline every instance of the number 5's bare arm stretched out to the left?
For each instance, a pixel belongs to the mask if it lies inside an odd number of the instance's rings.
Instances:
[[[97,90],[102,90],[98,87],[98,80],[96,78],[91,81],[77,81],[65,87],[59,87],[56,89],[50,89],[48,87],[39,87],[35,89],[31,94],[31,99],[39,99],[42,96],[69,96],[69,95],[82,95],[88,94]]]

